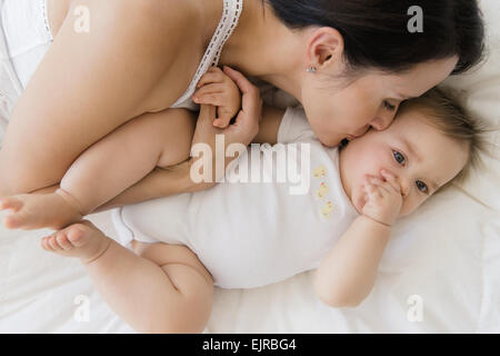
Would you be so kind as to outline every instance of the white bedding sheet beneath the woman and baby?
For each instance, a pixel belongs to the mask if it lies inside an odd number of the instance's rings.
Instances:
[[[480,2],[488,62],[447,85],[469,90],[470,107],[499,127],[500,2]],[[499,132],[491,139],[500,145]],[[500,160],[486,159],[486,170],[398,222],[377,284],[358,308],[322,305],[312,273],[304,273],[262,288],[216,289],[206,332],[500,333]],[[90,220],[116,237],[109,212]],[[0,333],[133,333],[79,261],[39,248],[48,233],[0,227]]]

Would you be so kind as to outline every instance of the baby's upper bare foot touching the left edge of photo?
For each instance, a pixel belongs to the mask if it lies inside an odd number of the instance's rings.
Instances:
[[[10,210],[3,219],[3,225],[9,229],[59,230],[82,218],[78,209],[58,194],[24,194],[2,198],[0,210]]]

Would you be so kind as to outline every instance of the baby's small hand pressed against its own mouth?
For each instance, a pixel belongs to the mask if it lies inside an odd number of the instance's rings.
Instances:
[[[368,176],[364,182],[367,202],[364,216],[391,226],[397,220],[402,206],[401,187],[396,177],[382,169],[383,179]]]

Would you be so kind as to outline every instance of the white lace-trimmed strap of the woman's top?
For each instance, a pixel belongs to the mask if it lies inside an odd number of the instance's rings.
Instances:
[[[238,26],[241,11],[243,10],[243,0],[223,0],[223,2],[222,18],[220,19],[216,33],[213,33],[203,55],[200,66],[198,67],[188,90],[186,90],[186,92],[172,105],[172,108],[184,108],[189,110],[198,110],[199,108],[199,105],[191,100],[196,86],[210,67],[219,63],[222,48]]]

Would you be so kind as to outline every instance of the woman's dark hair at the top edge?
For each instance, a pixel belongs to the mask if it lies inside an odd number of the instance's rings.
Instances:
[[[291,29],[331,27],[343,37],[350,69],[403,72],[417,63],[459,57],[453,75],[477,65],[484,27],[477,0],[262,0]],[[422,10],[423,31],[410,32],[409,9]]]

